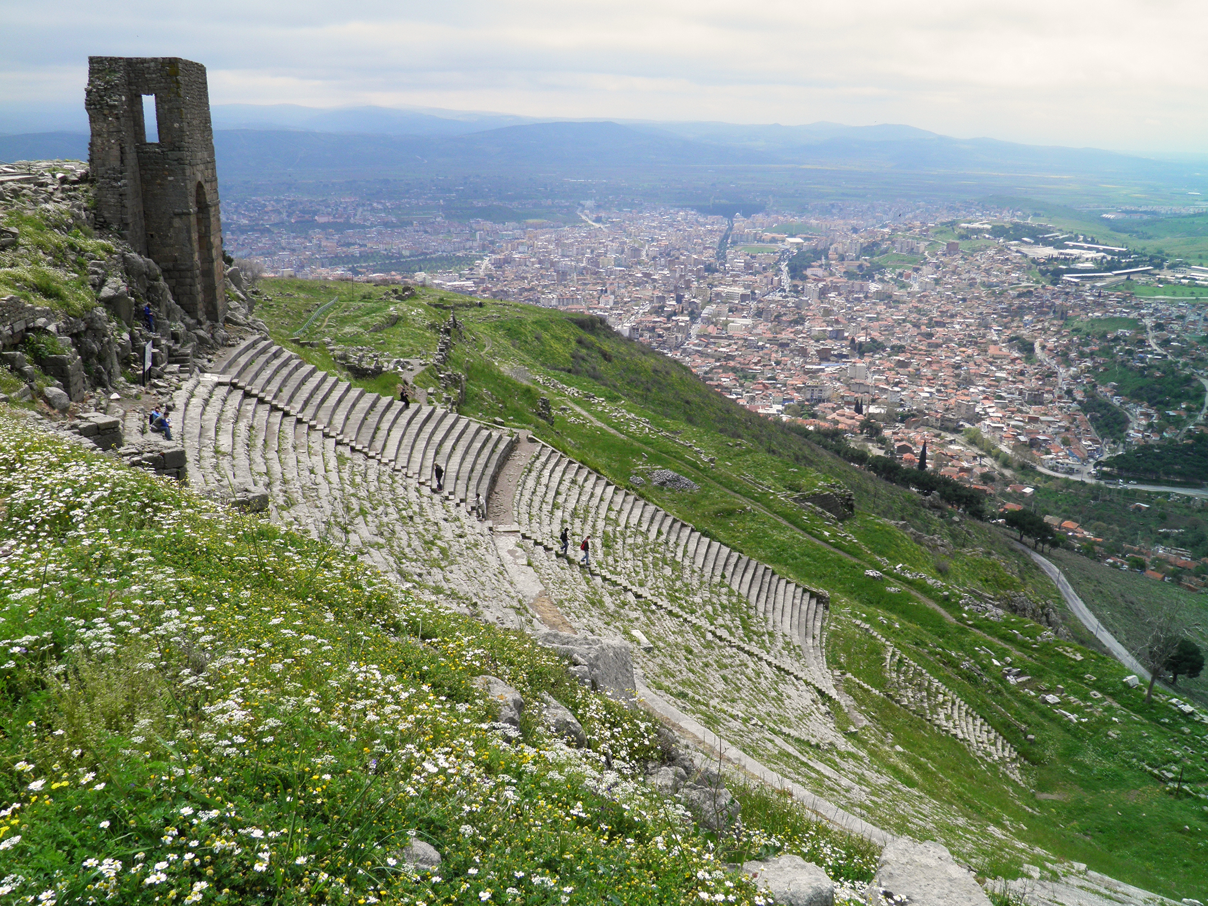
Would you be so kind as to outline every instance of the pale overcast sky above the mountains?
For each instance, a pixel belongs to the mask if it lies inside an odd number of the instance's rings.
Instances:
[[[1206,27],[1208,5],[1181,0],[4,0],[0,130],[82,108],[93,53],[194,59],[214,104],[907,123],[1203,153]]]

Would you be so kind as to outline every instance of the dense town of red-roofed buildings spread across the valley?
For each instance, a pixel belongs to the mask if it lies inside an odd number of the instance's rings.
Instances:
[[[397,221],[388,203],[364,201],[244,202],[228,215],[236,254],[278,272],[597,314],[754,411],[842,429],[905,464],[927,445],[929,467],[987,489],[1001,480],[995,457],[1082,472],[1185,434],[1202,410],[1202,394],[1158,410],[1097,376],[1113,343],[1133,366],[1192,354],[1201,315],[1155,284],[1208,274],[1017,211],[888,227],[583,204],[570,223]],[[464,263],[385,269],[441,256]],[[1056,278],[1044,269],[1055,265]],[[1092,336],[1075,326],[1085,319],[1121,320]]]

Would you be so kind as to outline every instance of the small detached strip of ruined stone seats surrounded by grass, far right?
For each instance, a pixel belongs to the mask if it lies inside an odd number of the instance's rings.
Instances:
[[[892,701],[956,737],[977,757],[1001,766],[1016,783],[1023,783],[1020,754],[1001,733],[982,720],[960,696],[894,647],[893,643],[869,623],[861,620],[853,622],[885,649],[887,695]]]

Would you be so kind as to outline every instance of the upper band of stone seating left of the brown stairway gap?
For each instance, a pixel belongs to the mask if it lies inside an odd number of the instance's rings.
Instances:
[[[445,494],[459,503],[486,503],[516,442],[512,435],[472,418],[435,406],[405,407],[355,388],[263,337],[236,349],[220,373],[248,396],[422,486],[435,487],[435,466],[440,465]]]

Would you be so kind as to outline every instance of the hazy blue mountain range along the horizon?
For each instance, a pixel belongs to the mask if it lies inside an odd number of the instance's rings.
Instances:
[[[225,180],[283,175],[806,167],[1144,180],[1208,190],[1208,158],[1156,159],[1096,149],[953,139],[910,126],[535,121],[435,109],[213,108]],[[0,126],[6,121],[0,117]],[[85,128],[0,135],[0,159],[87,157]]]

